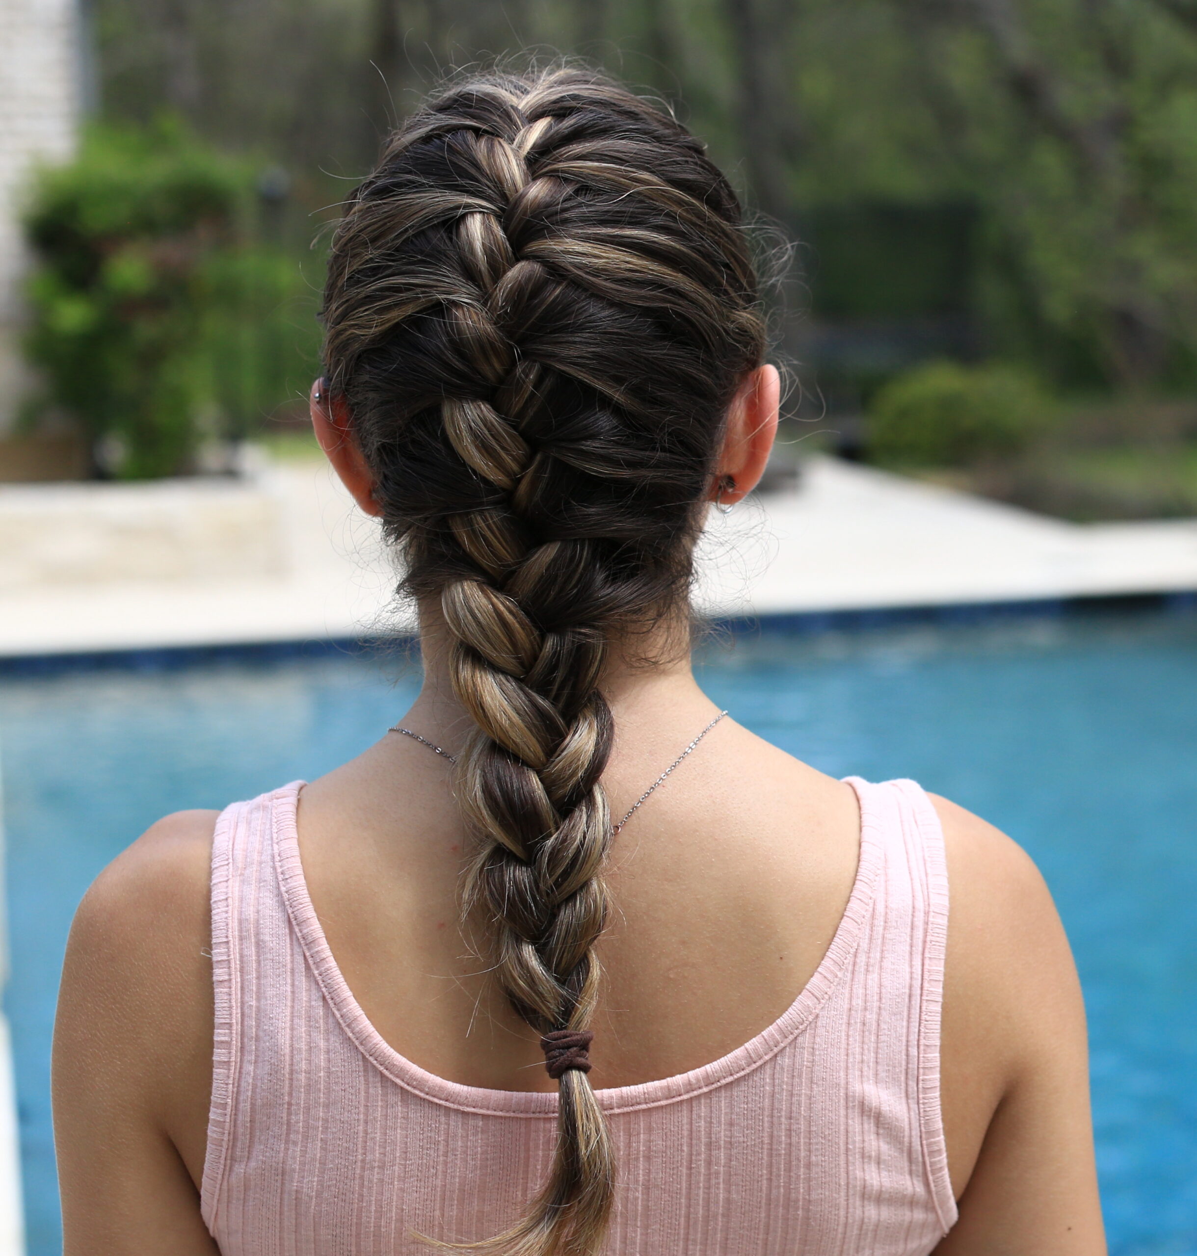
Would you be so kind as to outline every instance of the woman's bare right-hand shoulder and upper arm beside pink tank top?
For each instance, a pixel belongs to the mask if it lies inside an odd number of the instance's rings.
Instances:
[[[1064,926],[1017,843],[932,803],[950,883],[941,1100],[961,1199],[942,1251],[1098,1251],[1085,1014]],[[986,1246],[1011,1235],[1012,1247]]]

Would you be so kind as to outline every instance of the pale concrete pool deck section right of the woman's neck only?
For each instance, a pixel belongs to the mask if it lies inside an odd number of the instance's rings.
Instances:
[[[712,517],[705,549],[717,614],[1197,590],[1197,520],[1069,524],[829,458]]]

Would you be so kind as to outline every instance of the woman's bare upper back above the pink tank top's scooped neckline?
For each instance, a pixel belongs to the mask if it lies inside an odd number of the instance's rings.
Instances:
[[[623,727],[604,784],[622,815],[705,718]],[[431,1071],[554,1089],[538,1035],[486,980],[458,923],[472,853],[443,761],[391,737],[299,801],[306,883],[383,1037]],[[723,721],[617,836],[592,1083],[717,1059],[775,1020],[823,958],[857,870],[853,790]],[[413,1017],[409,1009],[420,1007]]]

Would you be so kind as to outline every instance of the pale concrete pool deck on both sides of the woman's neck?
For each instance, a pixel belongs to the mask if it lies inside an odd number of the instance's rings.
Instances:
[[[402,631],[393,585],[376,524],[317,462],[0,487],[0,657]],[[1197,520],[1068,524],[816,457],[796,489],[712,512],[697,602],[725,617],[1181,590],[1197,590]]]

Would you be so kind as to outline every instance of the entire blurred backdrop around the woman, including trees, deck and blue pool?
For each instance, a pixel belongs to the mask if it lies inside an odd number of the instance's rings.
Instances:
[[[1030,850],[1110,1251],[1197,1256],[1197,0],[0,0],[0,1256],[60,1251],[90,879],[418,682],[306,425],[338,206],[443,75],[561,55],[708,143],[776,278],[702,683]]]

